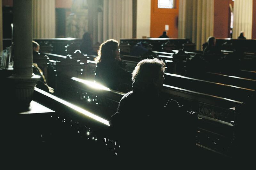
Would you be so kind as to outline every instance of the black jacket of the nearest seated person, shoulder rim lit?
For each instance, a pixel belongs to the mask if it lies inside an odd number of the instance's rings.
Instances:
[[[164,102],[153,89],[133,88],[120,100],[117,111],[109,124],[122,148],[121,156],[159,161],[170,159],[166,154],[178,159],[187,152],[192,133],[184,127],[190,124],[189,114],[177,101]]]

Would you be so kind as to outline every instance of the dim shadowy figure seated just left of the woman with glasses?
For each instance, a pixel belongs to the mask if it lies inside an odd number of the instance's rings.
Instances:
[[[83,54],[97,55],[97,52],[93,50],[92,38],[90,33],[84,33],[82,43],[80,45],[80,51]]]

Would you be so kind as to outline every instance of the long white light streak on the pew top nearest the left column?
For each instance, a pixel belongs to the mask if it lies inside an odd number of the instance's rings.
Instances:
[[[103,119],[103,118],[101,118],[101,117],[99,117],[97,115],[94,115],[91,112],[88,112],[87,110],[85,110],[85,109],[83,109],[81,107],[78,107],[78,106],[76,106],[76,105],[74,105],[72,103],[69,103],[68,101],[62,100],[62,99],[60,99],[60,98],[58,98],[58,97],[56,97],[56,96],[54,96],[54,95],[52,95],[50,93],[47,93],[47,92],[45,92],[45,91],[43,91],[43,90],[41,90],[41,89],[39,89],[37,87],[35,87],[35,91],[36,92],[40,92],[41,94],[44,94],[45,96],[47,96],[49,98],[52,98],[53,100],[56,100],[56,101],[58,101],[58,102],[60,102],[60,103],[62,103],[64,105],[66,105],[66,106],[76,110],[77,112],[82,113],[83,115],[86,115],[86,116],[88,116],[88,117],[90,117],[90,118],[92,118],[92,119],[94,119],[94,120],[96,120],[98,122],[101,122],[101,123],[103,123],[103,124],[105,124],[107,126],[110,126],[109,123],[108,123],[108,120]]]

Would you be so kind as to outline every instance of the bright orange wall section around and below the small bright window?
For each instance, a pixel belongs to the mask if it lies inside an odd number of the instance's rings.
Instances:
[[[167,35],[178,38],[179,0],[175,1],[174,9],[157,8],[157,0],[151,0],[150,37],[162,35],[165,25],[169,25]]]

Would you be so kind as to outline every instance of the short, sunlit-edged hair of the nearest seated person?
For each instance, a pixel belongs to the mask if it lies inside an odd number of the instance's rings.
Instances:
[[[151,84],[165,70],[165,63],[158,58],[141,60],[132,72],[132,82],[141,85]]]

